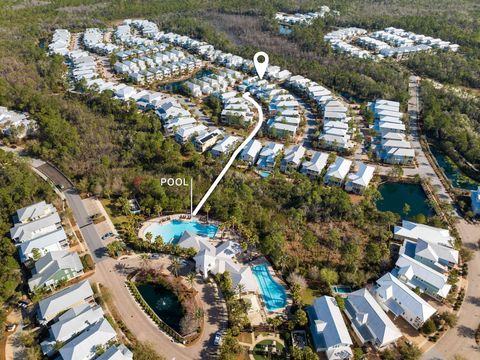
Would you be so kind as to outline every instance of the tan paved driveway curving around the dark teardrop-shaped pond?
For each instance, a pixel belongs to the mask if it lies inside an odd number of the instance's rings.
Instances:
[[[149,266],[168,265],[169,260],[162,256],[159,260],[150,260]],[[121,264],[118,266],[117,264]],[[127,327],[140,341],[150,342],[153,348],[167,359],[195,360],[216,358],[216,347],[213,346],[215,332],[226,329],[227,310],[225,302],[215,284],[205,284],[197,277],[195,289],[199,292],[200,302],[205,312],[204,330],[196,343],[184,346],[167,337],[155,323],[141,310],[130,295],[125,280],[127,274],[135,267],[142,266],[138,256],[126,260],[108,258],[97,264],[92,279],[102,283],[110,290],[112,301],[118,309]]]

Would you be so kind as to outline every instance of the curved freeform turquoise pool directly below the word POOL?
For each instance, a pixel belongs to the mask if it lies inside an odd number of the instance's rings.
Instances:
[[[148,226],[144,234],[152,233],[152,239],[160,235],[165,243],[175,243],[185,231],[213,238],[217,233],[218,226],[204,225],[198,221],[171,220],[165,223],[155,223]]]

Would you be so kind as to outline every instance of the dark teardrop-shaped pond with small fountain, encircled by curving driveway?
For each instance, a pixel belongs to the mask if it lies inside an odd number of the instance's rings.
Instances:
[[[152,308],[168,326],[175,331],[180,331],[180,320],[183,317],[182,304],[177,296],[165,286],[160,284],[136,284],[138,291],[146,303]]]

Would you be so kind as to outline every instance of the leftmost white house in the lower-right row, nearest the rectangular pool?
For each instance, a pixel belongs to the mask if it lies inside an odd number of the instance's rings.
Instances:
[[[337,301],[331,296],[316,298],[308,309],[315,351],[324,351],[329,360],[353,357],[352,339]]]

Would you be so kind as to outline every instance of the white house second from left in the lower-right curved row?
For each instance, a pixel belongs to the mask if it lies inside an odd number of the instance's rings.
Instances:
[[[402,336],[367,289],[348,295],[345,300],[345,313],[362,343],[368,342],[381,349],[395,343]]]

